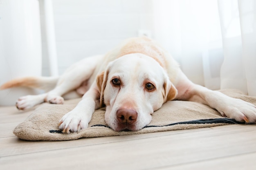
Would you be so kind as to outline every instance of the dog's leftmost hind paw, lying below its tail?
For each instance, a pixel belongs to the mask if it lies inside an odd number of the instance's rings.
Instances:
[[[26,110],[26,109],[34,107],[36,104],[39,104],[41,102],[43,102],[43,101],[38,101],[36,95],[27,95],[27,96],[22,96],[22,97],[18,98],[18,100],[16,102],[16,107],[19,110]]]

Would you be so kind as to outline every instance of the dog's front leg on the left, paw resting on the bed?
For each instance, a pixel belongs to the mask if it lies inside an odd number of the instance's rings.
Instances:
[[[99,98],[100,92],[94,82],[76,107],[61,118],[59,128],[65,133],[87,128],[94,110],[99,108]]]

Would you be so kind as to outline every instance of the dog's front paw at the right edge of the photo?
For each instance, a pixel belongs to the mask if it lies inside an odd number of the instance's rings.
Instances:
[[[223,117],[246,123],[256,122],[256,106],[241,99],[229,98],[222,102],[221,107],[217,110]]]

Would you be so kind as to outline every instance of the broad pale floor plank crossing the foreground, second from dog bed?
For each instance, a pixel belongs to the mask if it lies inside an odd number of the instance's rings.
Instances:
[[[13,155],[1,157],[0,169],[157,169],[254,153],[255,134],[246,125]]]

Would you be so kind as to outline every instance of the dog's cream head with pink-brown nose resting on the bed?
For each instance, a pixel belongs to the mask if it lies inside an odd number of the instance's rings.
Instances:
[[[176,88],[153,58],[143,54],[124,55],[108,64],[97,76],[105,119],[115,131],[137,131],[148,125],[151,114],[174,99]]]

